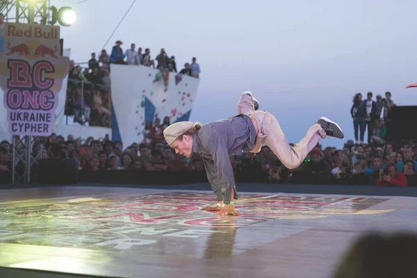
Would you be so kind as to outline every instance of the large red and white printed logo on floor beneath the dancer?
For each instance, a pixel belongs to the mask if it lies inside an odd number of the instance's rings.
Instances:
[[[113,195],[116,196],[116,195]],[[65,200],[65,199],[64,199]],[[240,195],[239,217],[219,217],[201,208],[215,204],[209,193],[163,193],[68,198],[0,211],[0,243],[127,250],[152,246],[165,238],[186,245],[190,238],[227,234],[279,220],[308,220],[331,215],[389,213],[372,210],[387,199],[368,197],[306,197]],[[28,200],[30,201],[30,200]],[[150,247],[149,247],[150,248]]]

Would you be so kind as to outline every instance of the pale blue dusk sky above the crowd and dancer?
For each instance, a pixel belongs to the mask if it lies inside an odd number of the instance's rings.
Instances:
[[[190,120],[202,123],[236,114],[244,90],[275,117],[289,142],[325,116],[353,139],[350,116],[356,92],[374,98],[390,91],[397,105],[416,105],[417,1],[411,0],[51,0],[72,6],[77,21],[61,27],[64,48],[76,63],[91,52],[161,48],[177,68],[197,57],[202,73]],[[81,3],[80,3],[81,2]],[[108,43],[107,40],[110,38]]]

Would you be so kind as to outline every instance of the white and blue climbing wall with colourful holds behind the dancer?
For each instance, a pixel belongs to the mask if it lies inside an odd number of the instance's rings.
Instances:
[[[170,122],[187,121],[197,94],[199,79],[183,76],[176,84],[177,73],[170,73],[165,86],[159,71],[137,65],[111,65],[113,140],[128,146],[142,142],[145,124],[156,117]]]

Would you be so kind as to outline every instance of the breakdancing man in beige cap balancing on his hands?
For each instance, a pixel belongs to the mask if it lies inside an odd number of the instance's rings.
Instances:
[[[344,138],[338,124],[321,117],[309,128],[306,136],[291,147],[277,119],[258,108],[259,101],[247,91],[240,97],[238,115],[234,117],[204,125],[199,122],[176,122],[163,131],[165,140],[176,154],[188,158],[194,154],[202,157],[208,182],[218,200],[218,204],[205,210],[219,211],[220,215],[241,215],[234,209],[234,199],[238,195],[230,156],[259,153],[265,144],[284,166],[294,169],[316,147],[320,138]]]

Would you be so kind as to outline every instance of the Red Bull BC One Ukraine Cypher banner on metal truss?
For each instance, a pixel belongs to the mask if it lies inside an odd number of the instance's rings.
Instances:
[[[59,26],[6,23],[0,86],[11,134],[51,135],[69,64],[60,56]]]

